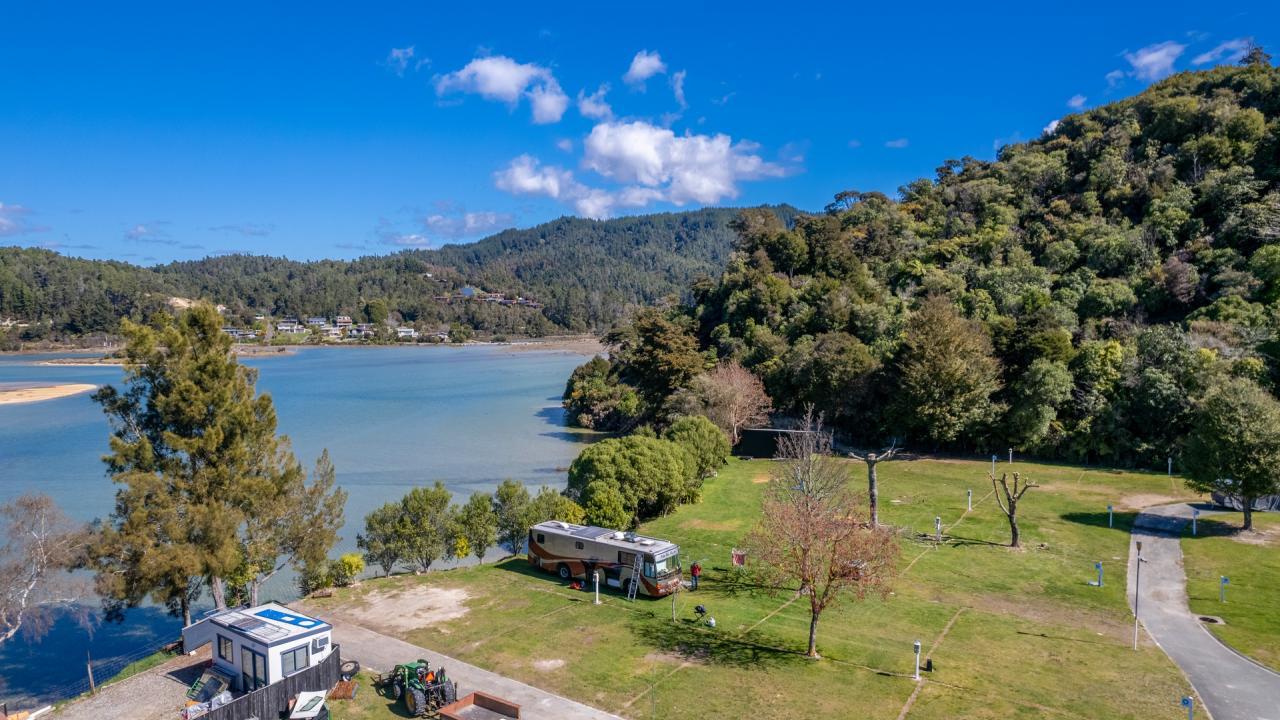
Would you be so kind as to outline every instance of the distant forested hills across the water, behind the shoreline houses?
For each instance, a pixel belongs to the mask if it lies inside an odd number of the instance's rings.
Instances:
[[[790,208],[769,211],[787,220],[795,215]],[[678,296],[699,274],[717,274],[732,245],[728,222],[736,213],[562,218],[470,245],[355,261],[227,255],[138,268],[0,249],[0,320],[35,323],[24,331],[28,336],[111,332],[120,318],[140,319],[177,296],[220,302],[243,315],[358,318],[374,302],[424,325],[456,322],[529,334],[595,331],[630,305]],[[467,284],[522,295],[543,309],[435,300]]]

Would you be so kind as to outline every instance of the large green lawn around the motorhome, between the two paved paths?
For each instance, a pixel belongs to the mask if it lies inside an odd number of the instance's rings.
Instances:
[[[901,575],[886,600],[849,601],[819,625],[823,660],[803,656],[808,606],[728,571],[759,512],[769,461],[732,461],[703,502],[643,530],[701,561],[703,589],[591,605],[522,559],[372,580],[312,601],[340,614],[370,592],[463,591],[458,619],[394,634],[627,717],[1180,717],[1190,688],[1155,644],[1129,647],[1124,568],[1133,507],[1190,497],[1162,474],[1015,464],[1042,487],[1020,507],[1025,548],[988,495],[988,464],[881,465],[881,518],[902,529]],[[851,465],[855,482],[865,470]],[[965,512],[965,491],[974,510]],[[1106,506],[1116,507],[1107,528]],[[933,519],[945,527],[941,544]],[[1107,583],[1091,587],[1102,561]],[[696,625],[707,605],[718,626]],[[376,629],[376,628],[375,628]],[[919,692],[911,643],[936,664]],[[462,688],[462,692],[483,688]],[[364,715],[351,715],[362,717]],[[378,717],[379,715],[367,715]],[[392,715],[380,715],[389,717]],[[339,716],[344,717],[344,716]]]

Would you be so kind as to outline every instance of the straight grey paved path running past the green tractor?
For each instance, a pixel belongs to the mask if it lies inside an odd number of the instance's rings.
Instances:
[[[294,603],[302,610],[301,605]],[[458,683],[458,694],[474,691],[495,694],[520,706],[520,716],[529,720],[621,720],[602,710],[558,694],[540,691],[518,680],[504,678],[439,652],[410,644],[404,641],[375,633],[367,628],[319,612],[333,625],[333,639],[342,646],[343,660],[358,660],[361,667],[378,671],[390,670],[397,662],[419,657],[429,660],[433,667],[443,666],[449,678]]]

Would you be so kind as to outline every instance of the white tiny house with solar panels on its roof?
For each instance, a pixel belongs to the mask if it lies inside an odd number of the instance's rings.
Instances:
[[[317,665],[333,651],[332,634],[328,623],[268,602],[187,625],[182,647],[212,643],[214,665],[236,678],[237,691],[251,692]]]

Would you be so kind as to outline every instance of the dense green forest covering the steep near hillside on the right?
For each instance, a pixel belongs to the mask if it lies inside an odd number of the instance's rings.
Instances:
[[[575,373],[573,418],[660,425],[740,364],[856,443],[1164,466],[1208,386],[1280,379],[1280,70],[1254,50],[896,199],[735,229],[717,279]]]

